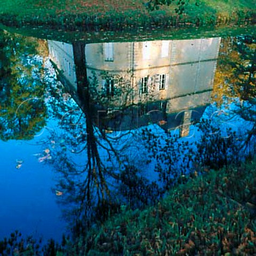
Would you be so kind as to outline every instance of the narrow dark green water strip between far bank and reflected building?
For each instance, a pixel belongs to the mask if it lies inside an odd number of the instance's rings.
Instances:
[[[145,40],[181,40],[198,39],[209,37],[238,36],[241,34],[254,35],[255,25],[249,26],[222,26],[222,27],[200,27],[200,28],[172,28],[153,30],[130,30],[130,31],[99,31],[98,33],[88,33],[85,31],[65,31],[45,28],[29,29],[27,27],[14,28],[4,26],[0,23],[0,29],[10,33],[18,33],[23,36],[36,37],[49,40],[57,40],[65,43],[72,43],[79,40],[85,43],[102,42],[131,42]]]

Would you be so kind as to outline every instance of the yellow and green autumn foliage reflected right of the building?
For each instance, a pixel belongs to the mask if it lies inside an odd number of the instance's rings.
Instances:
[[[220,106],[234,98],[253,98],[255,42],[252,36],[228,37],[221,41],[220,58],[214,79],[214,101]],[[247,81],[246,81],[247,79]],[[247,85],[246,85],[247,84]],[[251,94],[251,95],[249,95]]]

